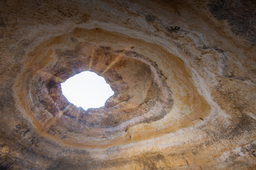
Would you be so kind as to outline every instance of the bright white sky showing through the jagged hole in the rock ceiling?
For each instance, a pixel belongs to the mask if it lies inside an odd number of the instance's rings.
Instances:
[[[114,94],[105,79],[94,72],[81,72],[70,77],[61,84],[61,89],[70,103],[85,110],[104,106],[107,98]]]

